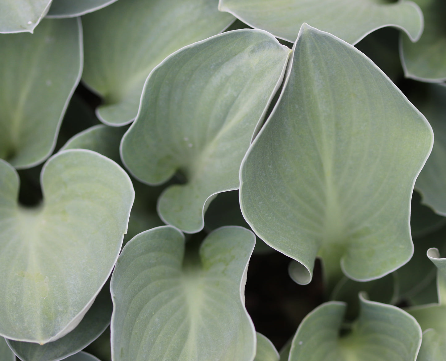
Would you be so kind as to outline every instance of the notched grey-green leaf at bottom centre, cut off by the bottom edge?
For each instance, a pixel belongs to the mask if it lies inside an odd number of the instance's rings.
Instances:
[[[244,361],[254,358],[255,331],[244,284],[255,236],[222,227],[185,253],[172,226],[138,234],[111,278],[114,361]]]

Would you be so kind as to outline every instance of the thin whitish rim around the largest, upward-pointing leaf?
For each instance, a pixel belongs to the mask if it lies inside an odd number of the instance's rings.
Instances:
[[[426,126],[429,128],[430,133],[431,133],[431,135],[432,135],[432,140],[431,140],[431,143],[430,143],[429,152],[427,153],[427,155],[426,155],[426,157],[425,157],[425,160],[423,161],[422,166],[420,167],[420,170],[417,172],[416,176],[415,176],[414,179],[413,179],[413,182],[412,182],[412,188],[411,188],[411,192],[410,192],[411,197],[408,198],[409,215],[408,215],[408,218],[407,218],[407,222],[408,222],[408,226],[409,226],[409,230],[410,230],[410,213],[411,213],[411,203],[412,203],[412,193],[413,193],[413,188],[414,188],[414,186],[415,186],[415,181],[417,180],[417,178],[418,178],[418,176],[419,176],[421,170],[423,169],[423,167],[424,167],[424,165],[425,165],[427,159],[429,158],[430,152],[432,152],[432,147],[434,146],[434,131],[432,130],[432,127],[430,126],[429,122],[426,120],[425,116],[422,115],[421,112],[420,112],[416,107],[413,106],[413,104],[412,104],[412,103],[409,101],[409,99],[408,99],[408,98],[401,92],[401,90],[399,90],[399,88],[392,82],[392,80],[390,80],[390,78],[389,78],[389,77],[388,77],[388,76],[387,76],[387,75],[386,75],[386,74],[385,74],[385,73],[384,73],[378,66],[376,66],[375,63],[372,62],[372,60],[370,60],[365,54],[363,54],[361,51],[359,51],[358,49],[356,49],[354,46],[352,46],[351,44],[347,43],[346,41],[343,41],[342,39],[339,39],[338,37],[335,37],[333,34],[326,33],[326,32],[324,32],[324,31],[322,31],[322,30],[313,28],[312,26],[308,25],[307,23],[303,23],[302,26],[301,26],[301,29],[299,30],[299,34],[298,34],[298,36],[297,36],[297,39],[296,39],[296,41],[294,42],[293,48],[291,49],[291,53],[292,53],[292,54],[294,54],[294,51],[296,50],[296,44],[297,44],[297,41],[299,40],[299,38],[301,37],[301,33],[303,33],[303,31],[305,31],[305,29],[312,29],[312,30],[314,30],[314,31],[316,31],[316,32],[318,32],[318,33],[322,33],[322,34],[325,34],[325,35],[327,35],[327,36],[329,36],[329,37],[332,37],[332,38],[336,39],[336,41],[340,41],[341,43],[347,45],[348,47],[351,47],[355,52],[357,52],[357,53],[361,54],[361,56],[365,57],[365,58],[372,64],[372,66],[374,66],[374,67],[376,68],[376,70],[378,70],[378,71],[384,76],[384,78],[386,78],[386,79],[388,80],[388,82],[389,82],[390,84],[392,84],[392,87],[393,87],[398,93],[401,94],[401,96],[407,101],[407,103],[410,104],[410,106],[413,108],[413,110],[414,110],[418,115],[421,115],[421,117],[422,117],[422,118],[424,119],[424,121],[425,121]],[[286,72],[285,72],[286,76],[285,76],[285,80],[284,80],[284,82],[283,82],[283,86],[282,86],[281,94],[280,94],[279,98],[277,99],[277,102],[276,102],[276,104],[274,105],[273,110],[271,111],[271,114],[268,116],[268,119],[266,119],[266,121],[265,121],[265,123],[263,124],[262,128],[260,129],[259,133],[256,135],[256,139],[254,139],[254,140],[252,141],[250,147],[248,148],[248,151],[246,152],[246,154],[245,154],[245,156],[244,156],[244,158],[243,158],[243,160],[242,160],[242,163],[241,163],[241,165],[240,165],[240,172],[239,172],[239,182],[240,182],[240,187],[241,187],[241,185],[242,185],[242,183],[243,183],[243,182],[242,182],[242,173],[243,173],[244,164],[245,164],[246,160],[248,159],[248,155],[251,153],[252,148],[254,147],[254,145],[257,143],[257,140],[259,139],[259,136],[258,136],[258,135],[260,135],[261,133],[263,133],[264,129],[266,128],[266,126],[270,123],[271,119],[273,118],[273,115],[275,114],[275,112],[276,112],[276,110],[277,110],[277,107],[279,106],[279,103],[280,103],[281,100],[282,100],[282,96],[283,96],[283,94],[284,94],[284,90],[285,90],[285,88],[286,88],[287,85],[288,85],[289,77],[290,77],[291,69],[292,69],[292,68],[293,68],[293,55],[290,56],[289,61],[288,61],[288,66],[287,66],[287,69],[286,69]],[[267,240],[265,240],[265,237],[263,237],[263,235],[261,234],[261,232],[259,232],[259,230],[257,230],[256,227],[255,227],[251,222],[248,221],[248,217],[247,217],[247,215],[245,214],[244,207],[242,206],[242,197],[241,197],[241,193],[240,193],[240,192],[239,192],[239,202],[240,202],[240,209],[241,209],[241,212],[242,212],[242,214],[243,214],[243,217],[245,218],[246,222],[247,222],[247,223],[249,224],[249,226],[251,227],[252,231],[253,231],[253,232],[254,232],[260,239],[262,239],[262,241],[264,241],[268,246],[270,246],[271,248],[277,250],[278,252],[281,252],[282,254],[285,254],[285,256],[287,256],[287,257],[291,258],[292,260],[297,261],[297,263],[299,263],[300,267],[299,267],[299,265],[291,264],[291,263],[290,263],[290,266],[289,266],[289,269],[288,269],[288,270],[289,270],[289,275],[290,275],[290,277],[291,277],[296,283],[301,284],[301,285],[306,285],[306,284],[310,283],[311,280],[313,279],[313,268],[314,268],[314,265],[313,265],[313,267],[306,267],[306,266],[305,266],[303,263],[301,263],[298,259],[294,258],[294,257],[290,254],[290,252],[286,252],[286,251],[284,251],[284,250],[279,250],[279,249],[277,249],[277,247],[273,246],[270,242],[268,242]],[[410,259],[412,258],[412,256],[413,256],[413,252],[414,252],[414,246],[413,246],[412,235],[410,235],[410,240],[411,240],[411,244],[412,244],[412,251],[411,251],[411,253],[410,253],[409,258],[408,258],[403,264],[401,264],[401,265],[399,265],[398,267],[395,267],[394,269],[392,269],[392,270],[390,270],[390,271],[384,273],[383,275],[376,276],[376,277],[371,277],[371,278],[369,278],[369,279],[356,279],[355,277],[352,277],[351,275],[348,275],[348,274],[347,274],[347,272],[346,272],[345,269],[344,269],[342,260],[341,260],[341,262],[340,262],[341,270],[343,271],[343,274],[344,274],[344,275],[346,275],[348,278],[352,279],[353,281],[357,281],[357,282],[369,282],[369,281],[373,281],[373,280],[375,280],[375,279],[380,279],[380,278],[382,278],[382,277],[384,277],[384,276],[386,276],[386,275],[388,275],[388,274],[390,274],[390,273],[396,271],[398,268],[400,268],[401,266],[404,266],[406,263],[409,262],[409,260],[410,260]],[[320,257],[318,257],[318,256],[317,256],[316,258],[319,258],[319,259],[320,259]],[[305,275],[305,276],[306,276],[305,282],[303,282],[303,281],[299,281],[299,282],[297,282],[297,279],[296,279],[296,277],[294,276],[296,273],[295,273],[294,271],[297,271],[298,269],[300,269],[301,271],[305,271],[305,272],[306,272],[306,275]]]

